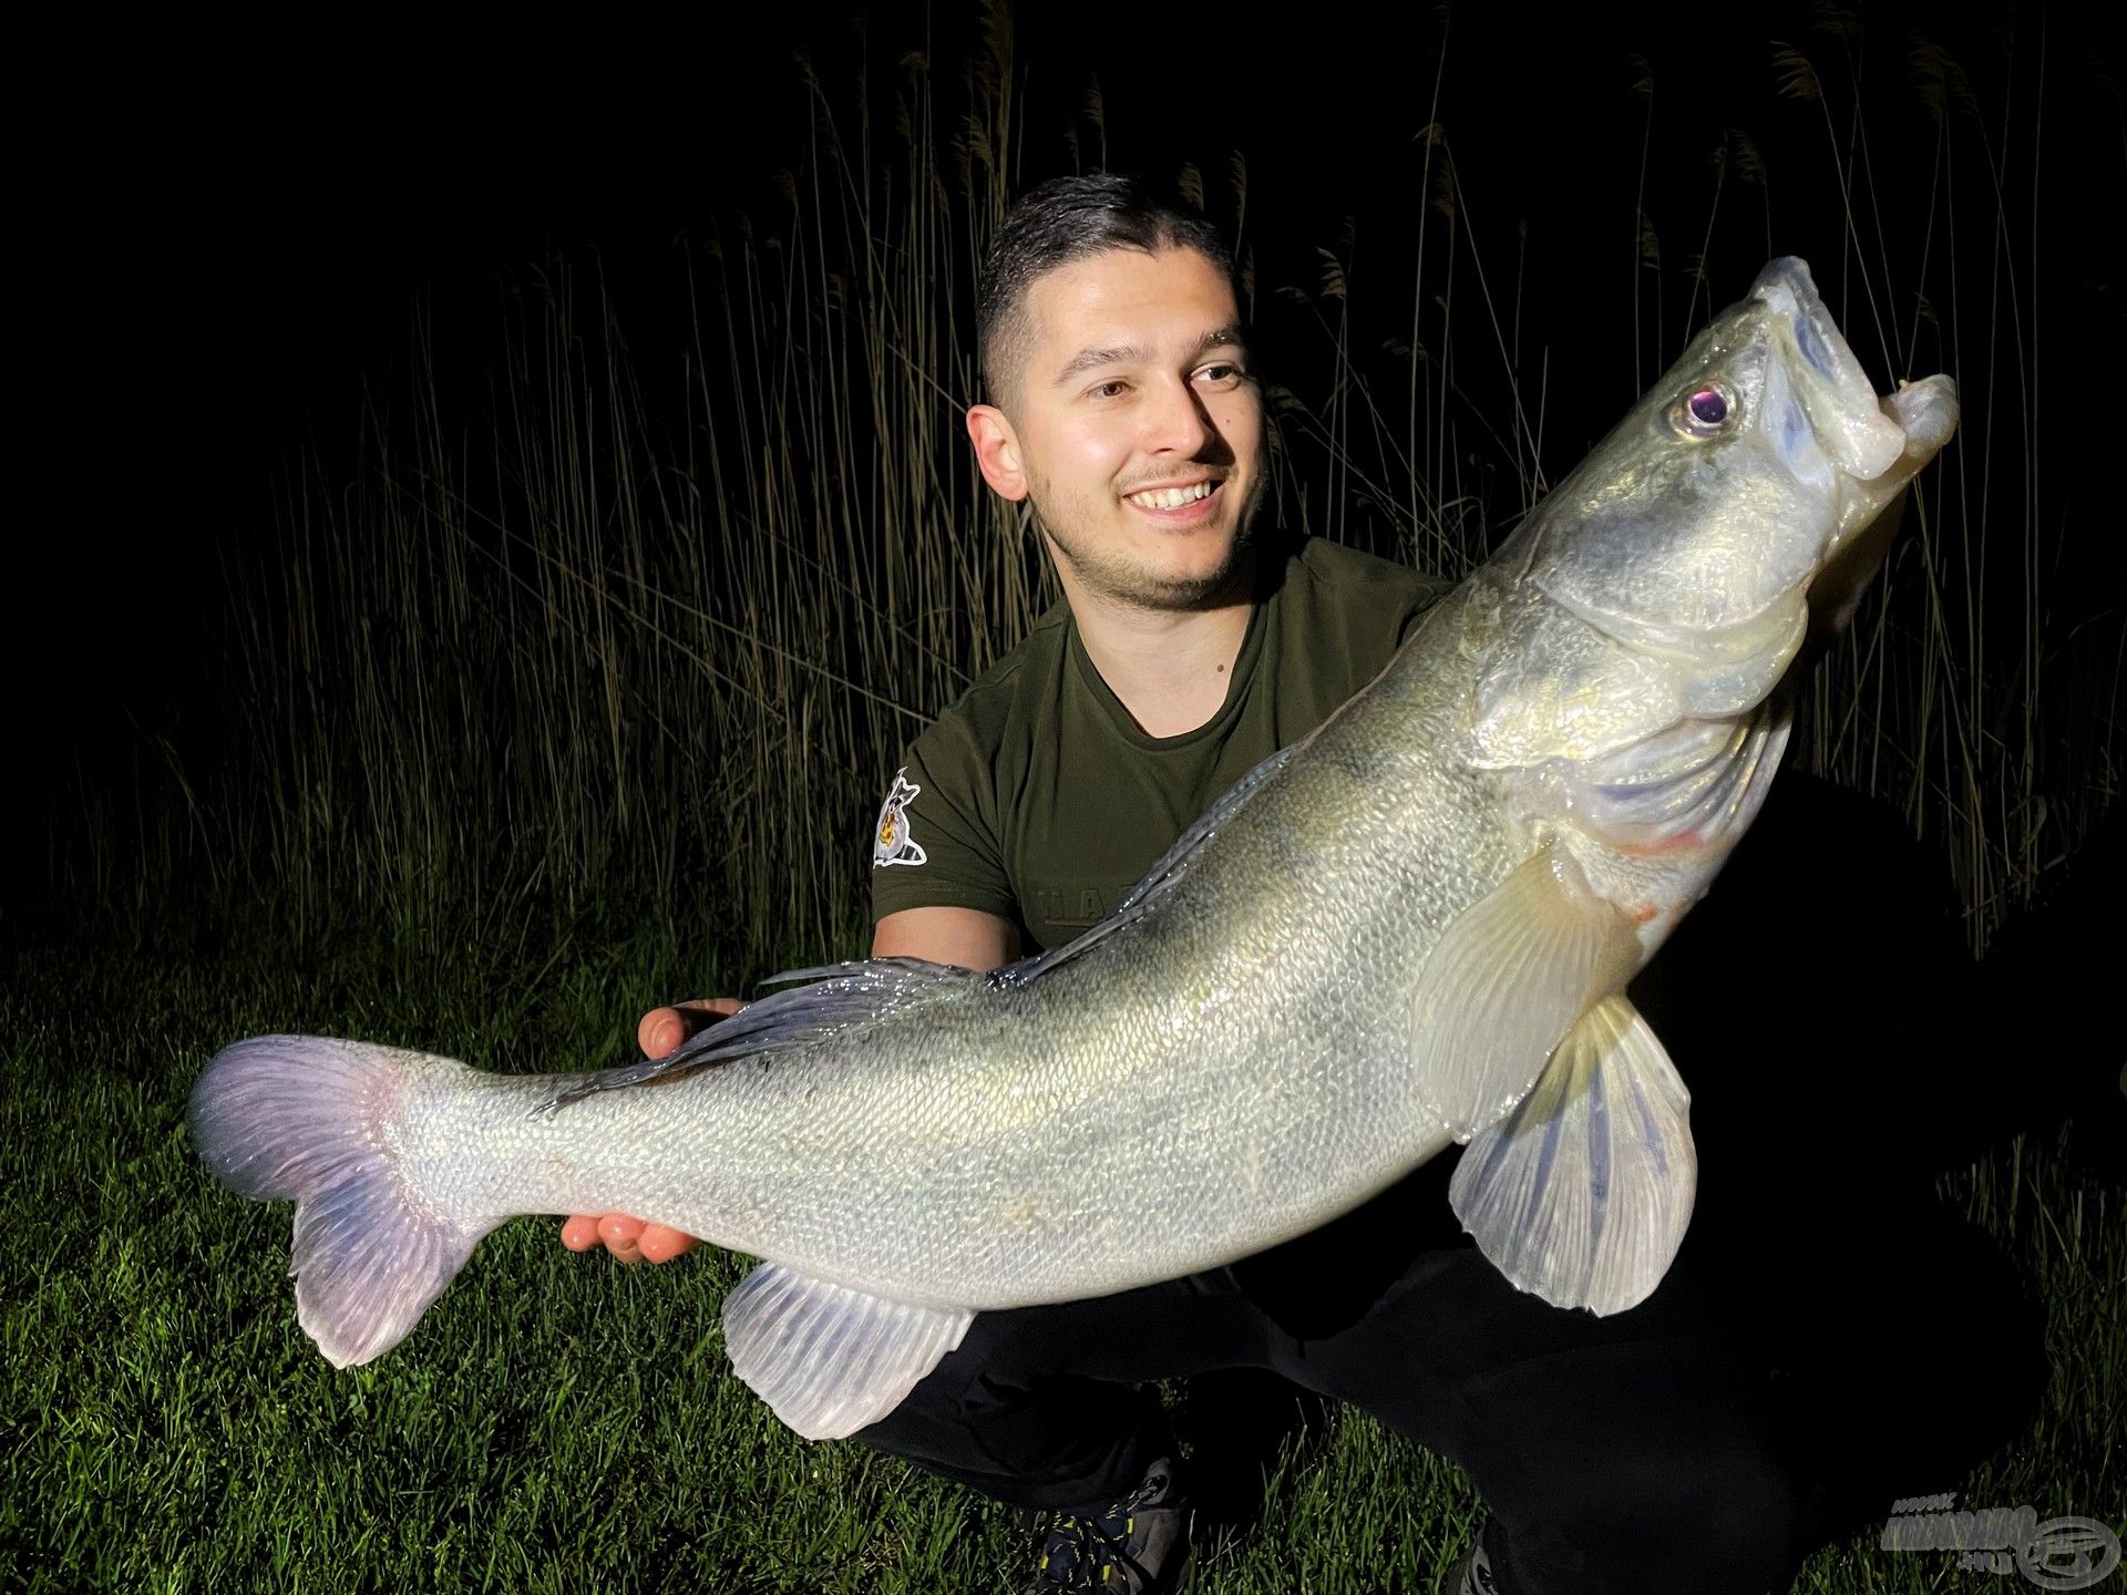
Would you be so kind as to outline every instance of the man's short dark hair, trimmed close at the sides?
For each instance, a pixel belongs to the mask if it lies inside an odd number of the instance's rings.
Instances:
[[[1121,172],[1057,177],[1027,189],[983,255],[974,291],[974,351],[991,398],[1004,398],[1004,366],[1023,342],[1027,289],[1057,266],[1108,249],[1193,249],[1232,281],[1234,251],[1204,213]]]

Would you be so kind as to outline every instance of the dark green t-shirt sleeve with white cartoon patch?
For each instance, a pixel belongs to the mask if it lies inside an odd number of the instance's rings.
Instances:
[[[1019,917],[1004,846],[985,819],[989,768],[940,721],[908,744],[872,825],[872,923],[904,908]]]

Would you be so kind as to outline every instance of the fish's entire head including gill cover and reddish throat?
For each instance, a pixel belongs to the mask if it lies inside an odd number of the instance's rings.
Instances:
[[[1955,425],[1948,376],[1878,396],[1810,268],[1776,259],[1472,581],[1463,755],[1519,772],[1521,825],[1565,836],[1646,951],[1748,827],[1776,687]]]

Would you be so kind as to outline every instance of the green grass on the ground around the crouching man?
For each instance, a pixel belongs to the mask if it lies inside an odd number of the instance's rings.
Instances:
[[[9,1191],[17,1244],[0,1255],[0,1586],[1015,1586],[1012,1514],[861,1446],[800,1442],[730,1376],[727,1255],[623,1270],[566,1253],[551,1221],[521,1221],[404,1346],[332,1370],[294,1323],[287,1208],[228,1195],[187,1146],[200,1057],[304,1025],[489,1068],[587,1061],[649,993],[715,974],[657,940],[408,963],[379,980],[391,963],[362,942],[302,963],[266,946],[219,961],[143,951],[117,1008],[94,966],[23,953],[4,970],[0,1136],[23,1176]],[[542,966],[566,972],[534,978]],[[2046,1302],[2053,1367],[2029,1429],[1963,1499],[2116,1523],[2121,1191],[2080,1187],[2050,1148],[2019,1144],[1950,1195]],[[1933,1289],[1955,1312],[1957,1280]],[[1187,1393],[1180,1408],[1187,1438]],[[1363,1414],[1314,1414],[1272,1459],[1259,1518],[1204,1546],[1200,1589],[1429,1591],[1474,1521],[1451,1463]],[[1997,1586],[1961,1582],[1948,1561],[1861,1535],[1819,1552],[1795,1589]]]

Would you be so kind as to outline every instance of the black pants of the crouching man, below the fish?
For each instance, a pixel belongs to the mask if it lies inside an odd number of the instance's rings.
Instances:
[[[1323,1278],[1336,1250],[1300,1259]],[[1697,1595],[1789,1586],[1802,1489],[1682,1270],[1608,1319],[1517,1291],[1470,1246],[1417,1253],[1338,1327],[1289,1312],[1302,1297],[1278,1287],[1242,1265],[981,1314],[857,1438],[1002,1501],[1098,1508],[1174,1450],[1136,1382],[1263,1367],[1461,1463],[1510,1595],[1644,1595],[1672,1567]]]

